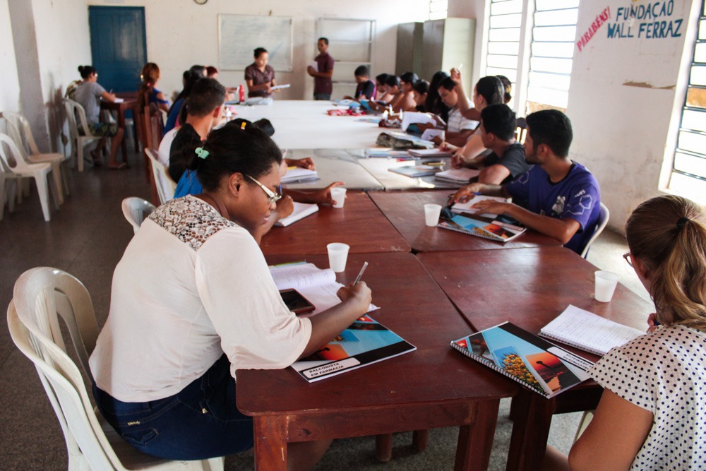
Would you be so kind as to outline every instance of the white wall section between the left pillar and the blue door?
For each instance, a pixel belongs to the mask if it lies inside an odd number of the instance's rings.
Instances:
[[[37,100],[42,100],[45,109],[52,149],[61,150],[61,98],[66,85],[80,78],[78,66],[91,62],[88,7],[85,0],[33,0],[32,5],[42,87]]]

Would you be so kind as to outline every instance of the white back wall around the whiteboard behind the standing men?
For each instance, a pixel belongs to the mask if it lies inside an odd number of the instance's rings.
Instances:
[[[280,99],[309,99],[313,94],[313,79],[306,66],[316,52],[316,20],[355,18],[376,20],[373,73],[393,71],[397,48],[397,23],[425,20],[429,14],[428,0],[210,0],[197,5],[190,0],[88,0],[97,6],[144,6],[147,28],[148,60],[156,62],[162,72],[158,88],[168,95],[181,90],[181,73],[192,64],[218,67],[219,13],[241,15],[291,16],[294,20],[294,69],[277,72],[277,83],[291,83]],[[404,5],[404,8],[402,8]],[[336,57],[332,42],[330,54]],[[249,64],[243,64],[243,68]],[[220,71],[218,80],[227,86],[244,83],[243,71]]]

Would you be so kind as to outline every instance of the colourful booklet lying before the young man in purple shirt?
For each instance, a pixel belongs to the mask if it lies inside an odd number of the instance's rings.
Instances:
[[[453,210],[452,210],[453,211]],[[511,217],[495,214],[441,213],[438,227],[496,242],[509,242],[527,230]],[[491,216],[491,217],[489,217]]]

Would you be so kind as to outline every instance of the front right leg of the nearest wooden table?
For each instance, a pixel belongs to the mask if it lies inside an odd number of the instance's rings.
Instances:
[[[474,423],[463,425],[458,431],[454,471],[488,469],[499,407],[500,400],[474,404]]]

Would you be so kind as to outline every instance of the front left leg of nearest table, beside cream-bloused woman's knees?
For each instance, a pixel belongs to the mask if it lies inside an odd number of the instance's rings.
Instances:
[[[287,470],[287,417],[253,417],[255,435],[255,469]]]

